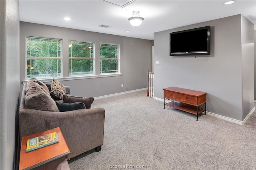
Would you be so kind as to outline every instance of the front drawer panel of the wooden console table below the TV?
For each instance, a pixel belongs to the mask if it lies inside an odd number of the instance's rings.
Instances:
[[[183,95],[183,94],[175,93],[175,92],[171,92],[171,91],[164,91],[164,97],[168,98],[168,99],[180,101],[183,103],[197,105],[197,98],[189,96],[189,95]]]

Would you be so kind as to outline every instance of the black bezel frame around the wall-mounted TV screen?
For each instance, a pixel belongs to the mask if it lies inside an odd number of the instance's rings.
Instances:
[[[205,27],[200,27],[200,28],[193,28],[189,30],[183,30],[183,31],[178,31],[178,32],[171,32],[170,33],[170,56],[177,56],[177,55],[210,55],[210,26],[205,26]],[[183,32],[193,32],[196,30],[204,30],[207,29],[207,51],[192,51],[192,52],[179,52],[179,53],[172,53],[171,52],[171,44],[172,44],[172,39],[171,35],[172,34],[179,34]]]

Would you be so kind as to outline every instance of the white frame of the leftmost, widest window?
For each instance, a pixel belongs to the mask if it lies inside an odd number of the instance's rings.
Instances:
[[[27,56],[27,39],[28,38],[35,38],[35,39],[46,39],[46,40],[58,40],[60,41],[60,57],[28,57]],[[63,63],[62,63],[62,54],[63,54],[63,40],[62,39],[58,39],[58,38],[45,38],[45,37],[40,37],[40,36],[25,36],[25,80],[28,81],[29,79],[32,78],[32,74],[31,74],[31,69],[30,69],[30,78],[27,78],[27,60],[30,59],[30,64],[32,62],[32,59],[56,59],[57,60],[57,70],[58,70],[58,60],[60,60],[60,76],[57,76],[57,77],[40,77],[38,79],[52,79],[52,78],[62,78],[63,77],[63,71],[62,71],[62,68],[63,68]],[[57,53],[58,53],[58,50],[57,50]],[[56,73],[57,75],[59,73]]]

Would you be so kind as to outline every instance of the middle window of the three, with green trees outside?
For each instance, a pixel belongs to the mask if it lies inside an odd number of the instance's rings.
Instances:
[[[94,74],[94,43],[69,42],[69,75]]]

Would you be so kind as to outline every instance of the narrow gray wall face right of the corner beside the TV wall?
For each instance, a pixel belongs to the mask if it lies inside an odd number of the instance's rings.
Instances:
[[[243,120],[254,107],[254,25],[242,16]]]

